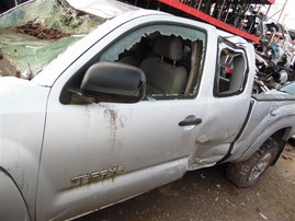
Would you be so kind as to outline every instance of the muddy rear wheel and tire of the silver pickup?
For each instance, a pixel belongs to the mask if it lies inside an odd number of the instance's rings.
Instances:
[[[227,177],[238,187],[256,185],[263,172],[272,164],[279,153],[279,143],[268,139],[247,161],[229,164]]]

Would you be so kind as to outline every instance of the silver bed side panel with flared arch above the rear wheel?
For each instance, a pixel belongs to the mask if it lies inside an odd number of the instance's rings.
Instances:
[[[246,130],[227,161],[247,160],[268,138],[283,128],[295,128],[292,102],[254,102]]]

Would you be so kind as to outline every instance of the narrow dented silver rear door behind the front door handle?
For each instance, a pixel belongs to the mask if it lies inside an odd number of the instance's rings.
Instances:
[[[253,81],[252,68],[245,47],[228,40],[218,45],[213,97],[208,101],[208,115],[197,143],[198,158],[207,165],[215,164],[229,153],[238,138],[250,108]]]

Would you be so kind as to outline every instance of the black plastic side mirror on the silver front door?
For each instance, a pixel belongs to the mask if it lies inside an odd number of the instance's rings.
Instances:
[[[80,89],[97,102],[137,103],[146,94],[146,77],[136,67],[101,61],[87,70]]]

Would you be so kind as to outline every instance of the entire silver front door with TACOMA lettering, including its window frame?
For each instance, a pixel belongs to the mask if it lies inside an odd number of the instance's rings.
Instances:
[[[144,53],[154,56],[147,49],[152,49],[150,45],[160,36],[179,36],[181,49],[197,42],[200,47],[205,46],[201,31],[169,23],[146,25],[126,35],[121,34],[123,27],[117,28],[80,58],[87,62],[77,61],[55,83],[48,97],[37,219],[75,217],[185,173],[205,115],[205,108],[200,108],[205,103],[197,100],[203,60],[198,59],[197,69],[193,69],[191,57],[196,57],[197,51],[197,57],[204,56],[204,49],[186,48],[191,50],[189,61],[182,57],[178,60],[178,66],[186,62],[189,67],[186,83],[192,85],[186,94],[149,93],[144,101],[128,104],[103,100],[89,103],[76,93],[89,67],[100,61],[123,62],[123,55],[137,55],[138,61],[144,59]],[[190,74],[196,74],[194,80]]]

